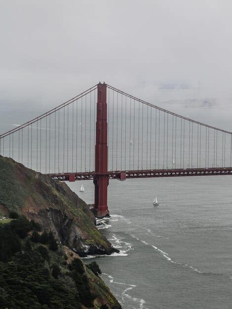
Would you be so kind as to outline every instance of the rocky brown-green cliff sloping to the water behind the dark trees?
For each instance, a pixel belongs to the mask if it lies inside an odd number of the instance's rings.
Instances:
[[[65,183],[58,183],[11,158],[0,156],[0,216],[24,214],[52,231],[81,257],[116,251],[96,229],[86,203]]]

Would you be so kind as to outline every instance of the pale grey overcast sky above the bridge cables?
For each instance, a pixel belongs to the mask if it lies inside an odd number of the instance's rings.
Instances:
[[[231,0],[1,0],[0,39],[2,106],[52,107],[99,80],[152,103],[166,84],[232,102]]]

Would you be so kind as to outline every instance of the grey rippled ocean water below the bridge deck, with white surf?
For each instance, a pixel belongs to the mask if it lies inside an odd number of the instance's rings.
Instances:
[[[67,183],[86,202],[93,185]],[[232,308],[232,177],[110,181],[98,228],[120,250],[96,261],[124,309]],[[159,205],[153,205],[157,195]]]

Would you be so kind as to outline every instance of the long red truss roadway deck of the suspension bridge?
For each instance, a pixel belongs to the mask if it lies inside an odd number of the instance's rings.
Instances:
[[[107,175],[109,179],[123,181],[126,180],[126,178],[232,175],[232,167],[108,171],[107,174],[99,174],[96,172],[75,172],[46,175],[59,181],[93,180],[97,179],[99,175]]]

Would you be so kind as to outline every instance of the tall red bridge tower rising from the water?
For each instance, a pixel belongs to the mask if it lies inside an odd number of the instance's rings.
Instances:
[[[95,142],[94,214],[97,218],[109,215],[107,187],[109,185],[107,145],[107,85],[97,85],[97,119]]]

